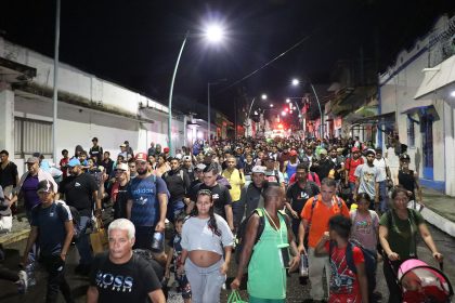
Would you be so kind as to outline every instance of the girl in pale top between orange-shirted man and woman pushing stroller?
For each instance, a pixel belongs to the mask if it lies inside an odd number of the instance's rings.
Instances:
[[[367,250],[377,253],[379,216],[368,207],[372,203],[369,195],[366,193],[359,194],[358,209],[351,210],[351,239],[358,241]]]

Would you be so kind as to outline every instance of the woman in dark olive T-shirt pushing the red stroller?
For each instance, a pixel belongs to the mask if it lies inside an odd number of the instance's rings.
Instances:
[[[443,260],[424,218],[420,212],[407,208],[408,201],[407,189],[395,187],[392,192],[392,209],[382,214],[379,221],[379,241],[384,250],[384,275],[390,292],[389,303],[401,302],[395,277],[404,261],[418,259],[417,235],[420,235],[438,262]]]

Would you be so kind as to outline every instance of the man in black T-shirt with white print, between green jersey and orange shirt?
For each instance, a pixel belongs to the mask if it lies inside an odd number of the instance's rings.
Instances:
[[[296,170],[297,182],[292,183],[286,192],[286,209],[292,219],[292,232],[296,239],[299,236],[300,213],[307,200],[316,196],[320,188],[316,183],[308,181],[308,163],[299,163]]]

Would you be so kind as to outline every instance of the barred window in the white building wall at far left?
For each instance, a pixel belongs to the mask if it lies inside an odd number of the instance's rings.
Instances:
[[[14,118],[14,154],[21,158],[34,153],[52,155],[52,122]]]

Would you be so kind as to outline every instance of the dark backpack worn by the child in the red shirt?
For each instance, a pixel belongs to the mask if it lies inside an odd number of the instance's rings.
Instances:
[[[332,258],[332,251],[334,249],[334,241],[330,241],[329,245],[329,250],[328,250],[328,258]],[[366,279],[368,281],[368,301],[369,302],[375,302],[373,301],[373,292],[375,291],[376,288],[376,254],[375,252],[364,248],[361,243],[355,242],[355,241],[348,241],[348,246],[346,247],[346,263],[348,264],[349,269],[352,271],[352,273],[354,273],[355,275],[358,274],[358,268],[355,267],[354,264],[354,256],[352,253],[352,250],[354,247],[360,248],[360,250],[363,253],[363,259],[365,260],[365,275],[366,275]]]

